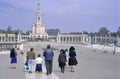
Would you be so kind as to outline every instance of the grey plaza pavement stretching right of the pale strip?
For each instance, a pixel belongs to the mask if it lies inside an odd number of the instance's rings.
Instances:
[[[75,44],[37,42],[26,43],[24,48],[34,47],[36,53],[42,54],[42,48],[45,48],[48,44],[58,49],[54,50],[53,73],[60,77],[60,79],[120,79],[120,52],[116,52],[113,55],[109,49],[105,49],[107,53],[104,53],[104,50]],[[70,69],[66,69],[63,74],[60,72],[57,61],[59,50],[69,49],[70,46],[75,46],[76,48],[78,65],[74,73],[70,72]]]

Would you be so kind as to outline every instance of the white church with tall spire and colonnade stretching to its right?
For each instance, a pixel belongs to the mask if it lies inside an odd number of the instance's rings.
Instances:
[[[91,36],[84,33],[61,33],[58,29],[46,30],[41,21],[40,3],[37,5],[36,23],[32,24],[32,32],[29,35],[22,35],[22,40],[28,41],[54,41],[58,43],[76,43],[76,44],[103,44],[113,43],[113,37]]]

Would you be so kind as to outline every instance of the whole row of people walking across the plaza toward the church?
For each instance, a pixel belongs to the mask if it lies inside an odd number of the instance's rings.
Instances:
[[[24,54],[23,51],[21,53]],[[36,56],[36,53],[34,52],[34,48],[30,48],[30,50],[27,52],[26,55],[26,66],[29,71],[29,73],[33,72],[33,64],[36,64],[35,72],[36,73],[42,73],[42,62],[43,59],[40,54]],[[51,49],[50,45],[47,45],[47,48],[43,52],[44,60],[45,60],[45,66],[46,66],[46,75],[52,74],[52,67],[53,67],[53,57],[54,52]],[[15,48],[13,48],[10,51],[10,58],[11,58],[11,64],[12,68],[16,68],[17,64],[17,51]],[[69,52],[67,49],[61,49],[60,54],[58,57],[58,63],[59,67],[61,69],[61,72],[64,73],[65,66],[69,66],[71,69],[71,72],[74,72],[75,66],[77,65],[77,59],[76,59],[76,52],[75,48],[73,46],[70,47]]]

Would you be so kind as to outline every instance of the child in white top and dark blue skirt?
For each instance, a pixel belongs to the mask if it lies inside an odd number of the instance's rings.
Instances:
[[[38,57],[35,59],[35,63],[36,63],[36,69],[35,72],[36,73],[42,73],[42,61],[43,59],[41,58],[41,55],[38,54]]]

